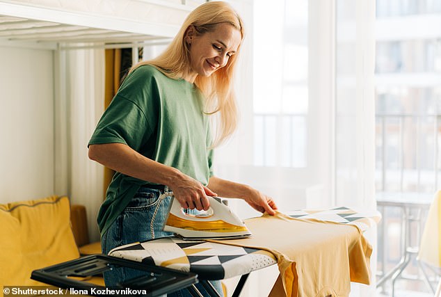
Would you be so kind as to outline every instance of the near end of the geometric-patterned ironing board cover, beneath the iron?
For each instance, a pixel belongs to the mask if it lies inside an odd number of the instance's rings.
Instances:
[[[271,252],[207,241],[164,237],[114,248],[113,257],[198,274],[200,280],[223,280],[276,264]]]

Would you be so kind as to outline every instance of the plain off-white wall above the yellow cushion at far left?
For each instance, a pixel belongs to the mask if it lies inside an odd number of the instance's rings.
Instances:
[[[52,69],[52,51],[0,47],[0,203],[54,194]]]

